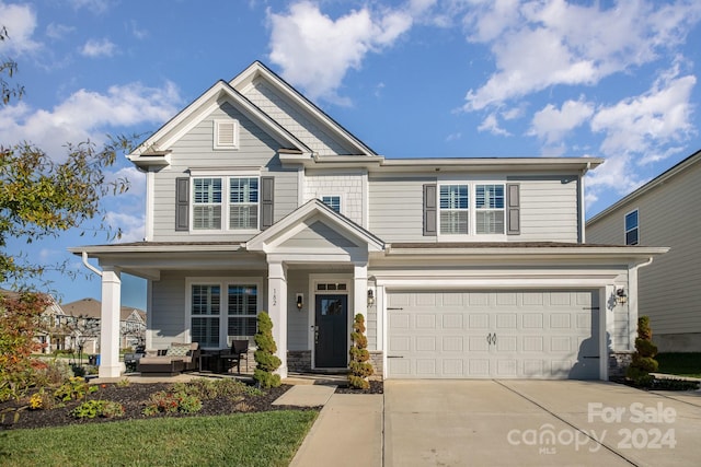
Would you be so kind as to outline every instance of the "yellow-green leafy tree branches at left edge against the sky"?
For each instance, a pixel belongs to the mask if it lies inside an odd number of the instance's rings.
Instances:
[[[7,30],[0,26],[0,42],[5,39]],[[13,86],[9,81],[16,70],[16,62],[10,59],[0,63],[2,105],[24,93],[22,86]],[[118,153],[131,148],[135,139],[110,137],[102,148],[91,141],[67,143],[62,162],[31,142],[0,141],[0,282],[21,289],[30,280],[41,279],[49,268],[70,273],[66,262],[47,266],[26,255],[11,254],[7,250],[10,237],[32,243],[56,237],[92,219],[101,220],[99,231],[110,232],[100,201],[108,194],[126,191],[129,182],[126,178],[107,182],[105,170],[115,163]],[[108,235],[119,237],[120,231]]]

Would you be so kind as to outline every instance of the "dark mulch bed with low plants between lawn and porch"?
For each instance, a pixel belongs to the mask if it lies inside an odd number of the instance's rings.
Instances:
[[[124,417],[114,419],[94,418],[77,420],[70,416],[70,411],[76,408],[76,406],[81,404],[82,400],[73,400],[70,402],[66,402],[65,407],[58,407],[50,410],[22,410],[20,412],[20,419],[16,423],[12,423],[14,419],[13,413],[4,413],[4,423],[0,425],[0,430],[65,427],[69,424],[104,423],[123,420],[143,420],[160,417],[221,416],[241,412],[240,409],[234,407],[237,406],[237,404],[241,402],[240,400],[232,401],[231,399],[220,397],[211,400],[203,400],[202,410],[197,413],[159,413],[150,417],[143,416],[141,413],[143,407],[146,406],[152,394],[158,393],[159,390],[168,390],[172,386],[173,384],[171,383],[133,383],[129,386],[122,387],[117,386],[116,384],[101,384],[97,386],[99,390],[89,395],[88,398],[91,400],[112,400],[122,404],[125,410]],[[238,407],[240,408],[242,406],[245,406],[246,412],[289,409],[289,407],[286,406],[273,406],[272,404],[279,396],[285,394],[285,392],[290,387],[290,385],[281,385],[280,387],[266,389],[265,394],[262,396],[243,396],[244,404]],[[0,404],[0,413],[4,409],[26,406],[26,400],[23,400],[22,404],[18,404],[15,401],[2,402]],[[300,408],[296,407],[296,409]]]

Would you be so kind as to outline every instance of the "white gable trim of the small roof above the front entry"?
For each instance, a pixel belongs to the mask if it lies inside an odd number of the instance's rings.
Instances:
[[[306,202],[267,230],[261,232],[246,242],[245,247],[250,252],[267,252],[271,243],[284,242],[292,237],[297,230],[312,218],[323,222],[345,237],[357,238],[367,244],[368,252],[381,252],[384,249],[384,243],[379,237],[318,199]]]

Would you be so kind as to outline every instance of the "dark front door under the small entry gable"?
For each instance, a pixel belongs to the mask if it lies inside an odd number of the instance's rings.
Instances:
[[[317,295],[315,366],[346,367],[348,363],[348,296]]]

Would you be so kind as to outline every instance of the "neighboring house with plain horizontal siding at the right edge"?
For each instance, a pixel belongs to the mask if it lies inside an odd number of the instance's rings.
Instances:
[[[665,352],[701,352],[701,151],[587,222],[587,241],[666,245],[640,272],[637,310]]]

